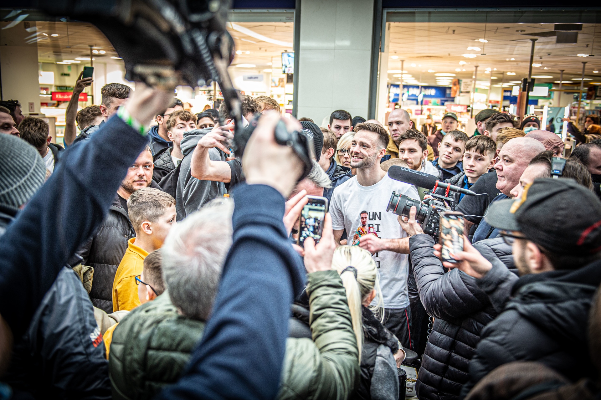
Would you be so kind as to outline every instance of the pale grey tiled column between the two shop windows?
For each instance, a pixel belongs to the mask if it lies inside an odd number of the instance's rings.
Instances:
[[[302,0],[297,116],[367,119],[373,0]],[[327,125],[327,123],[326,123]]]

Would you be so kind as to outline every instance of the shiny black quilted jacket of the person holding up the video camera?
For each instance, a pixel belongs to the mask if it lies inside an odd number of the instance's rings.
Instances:
[[[483,255],[500,263],[498,255],[505,256],[511,249],[502,240],[493,240],[483,241],[483,249],[488,250]],[[434,239],[426,234],[409,239],[419,298],[435,318],[415,390],[422,400],[457,399],[468,381],[469,360],[480,333],[498,313],[474,277],[458,269],[446,272],[433,245]]]

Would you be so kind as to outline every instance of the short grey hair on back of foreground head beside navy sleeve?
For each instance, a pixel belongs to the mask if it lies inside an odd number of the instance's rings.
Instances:
[[[231,247],[234,203],[218,198],[171,229],[161,248],[169,298],[182,314],[206,321]]]

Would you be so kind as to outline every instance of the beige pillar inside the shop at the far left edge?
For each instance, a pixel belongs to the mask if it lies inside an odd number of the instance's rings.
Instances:
[[[1,22],[4,28],[10,22]],[[25,26],[28,25],[28,28]],[[0,70],[3,100],[19,100],[24,115],[40,113],[37,29],[35,22],[19,22],[0,30]],[[29,111],[29,104],[33,110]]]

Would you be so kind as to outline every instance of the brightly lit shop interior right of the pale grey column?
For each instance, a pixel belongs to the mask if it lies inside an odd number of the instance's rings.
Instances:
[[[474,132],[472,117],[482,109],[519,114],[518,94],[530,74],[524,114],[537,115],[555,133],[566,115],[584,123],[601,109],[601,26],[561,22],[386,23],[380,119],[401,107],[421,127],[429,116],[439,124],[452,111],[459,129]]]

